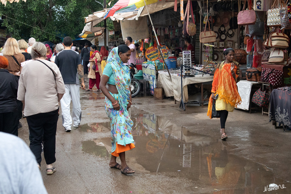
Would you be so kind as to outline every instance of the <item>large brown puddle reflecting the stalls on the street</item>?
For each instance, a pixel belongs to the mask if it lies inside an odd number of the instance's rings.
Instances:
[[[274,177],[267,167],[228,154],[227,141],[192,133],[154,114],[132,115],[131,118],[136,148],[127,151],[126,157],[130,165],[136,164],[133,166],[136,172],[168,173],[169,178],[182,176],[189,179],[186,184],[212,186],[215,193],[226,193],[225,190],[227,193],[263,193],[272,183],[288,185],[277,193],[290,193],[291,185]],[[110,123],[84,124],[78,130],[109,132]],[[83,141],[82,151],[110,158],[110,137]]]

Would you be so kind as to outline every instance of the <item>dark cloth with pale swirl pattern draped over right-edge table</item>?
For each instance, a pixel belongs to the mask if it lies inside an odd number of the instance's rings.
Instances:
[[[269,120],[291,127],[291,92],[274,89],[271,92],[269,102]]]

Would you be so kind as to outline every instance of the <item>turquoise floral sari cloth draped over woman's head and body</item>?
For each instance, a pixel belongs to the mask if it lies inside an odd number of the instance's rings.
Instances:
[[[120,110],[114,110],[111,101],[105,97],[105,111],[111,121],[111,153],[116,149],[116,143],[125,146],[133,143],[131,128],[133,121],[127,112],[127,105],[130,96],[130,75],[128,67],[123,64],[118,56],[118,47],[111,50],[107,59],[107,65],[111,65],[118,94],[111,96],[118,101]]]

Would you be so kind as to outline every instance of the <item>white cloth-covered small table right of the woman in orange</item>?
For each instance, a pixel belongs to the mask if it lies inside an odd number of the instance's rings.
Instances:
[[[237,105],[236,108],[242,109],[242,110],[250,110],[251,112],[251,90],[253,85],[255,84],[261,84],[259,82],[250,82],[247,80],[241,80],[237,82],[237,90],[239,93],[239,96],[242,98],[242,103]]]

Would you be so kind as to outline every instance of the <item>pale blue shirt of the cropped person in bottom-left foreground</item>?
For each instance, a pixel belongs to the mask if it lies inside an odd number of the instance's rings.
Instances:
[[[0,132],[0,193],[47,193],[29,147],[15,135]]]

